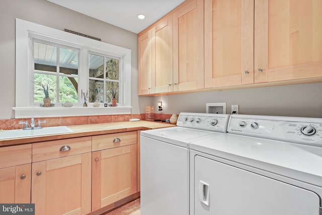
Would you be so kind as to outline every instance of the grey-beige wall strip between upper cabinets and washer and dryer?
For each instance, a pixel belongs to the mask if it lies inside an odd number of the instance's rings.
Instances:
[[[239,114],[322,118],[322,83],[189,93],[153,98],[165,104],[164,113],[206,112],[206,103],[239,105]]]

